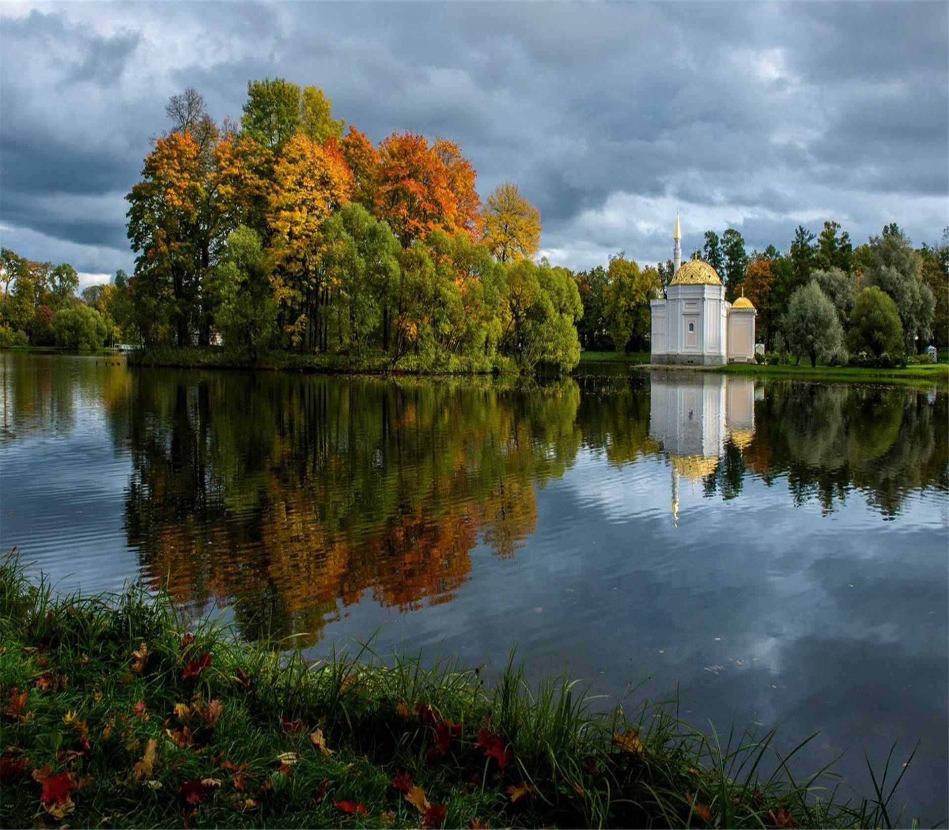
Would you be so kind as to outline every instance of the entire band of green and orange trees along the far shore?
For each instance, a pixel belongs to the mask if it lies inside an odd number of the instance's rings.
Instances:
[[[221,342],[251,360],[465,356],[521,371],[567,370],[581,348],[649,349],[649,300],[672,261],[535,262],[539,210],[511,182],[482,203],[455,141],[408,131],[373,145],[322,89],[282,78],[249,82],[238,121],[217,124],[191,88],[165,112],[126,196],[134,273],[80,300],[71,266],[3,249],[0,345]],[[787,251],[749,252],[730,228],[706,231],[693,257],[728,300],[754,303],[768,351],[843,360],[949,345],[949,229],[914,249],[892,224],[854,247],[828,221],[798,227]]]

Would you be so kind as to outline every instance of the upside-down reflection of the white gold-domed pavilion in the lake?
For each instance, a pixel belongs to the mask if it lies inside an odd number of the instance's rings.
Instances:
[[[672,470],[672,513],[679,521],[679,476],[715,472],[725,439],[744,450],[754,435],[754,380],[702,373],[652,376],[649,437],[660,441]]]

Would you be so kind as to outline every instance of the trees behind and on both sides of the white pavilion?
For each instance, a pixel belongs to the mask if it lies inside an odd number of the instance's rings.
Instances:
[[[949,228],[940,245],[921,248],[895,223],[856,248],[832,221],[819,234],[798,226],[786,252],[749,252],[732,228],[704,239],[692,259],[716,269],[729,302],[752,301],[757,339],[769,352],[843,361],[847,351],[899,358],[930,343],[949,346]],[[648,300],[672,277],[672,260],[641,268],[623,254],[579,271],[583,348],[648,351]]]

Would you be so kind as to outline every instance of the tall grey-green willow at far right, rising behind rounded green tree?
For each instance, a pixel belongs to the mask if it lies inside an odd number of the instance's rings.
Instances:
[[[916,354],[932,335],[936,299],[922,279],[922,261],[906,234],[895,223],[880,236],[870,237],[873,265],[864,273],[864,286],[882,288],[900,312],[906,352]]]

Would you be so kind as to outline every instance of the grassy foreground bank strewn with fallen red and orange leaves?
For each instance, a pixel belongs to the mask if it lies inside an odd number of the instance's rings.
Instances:
[[[906,824],[889,762],[870,798],[841,802],[827,770],[792,778],[809,739],[781,754],[773,732],[709,737],[674,704],[597,714],[577,681],[530,684],[513,660],[489,686],[368,648],[307,663],[208,620],[189,641],[162,596],[57,596],[15,557],[0,634],[4,826],[438,826],[393,785],[402,772],[449,827]]]

